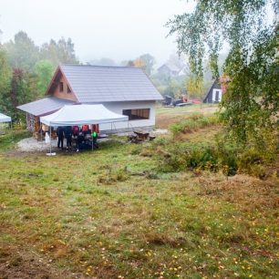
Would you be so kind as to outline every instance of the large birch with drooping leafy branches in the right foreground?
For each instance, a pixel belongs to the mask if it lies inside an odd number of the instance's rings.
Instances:
[[[179,52],[190,57],[191,71],[202,78],[209,58],[219,77],[218,55],[223,42],[230,48],[223,74],[230,78],[222,98],[222,120],[231,139],[258,150],[276,142],[279,107],[278,12],[275,0],[201,0],[191,14],[176,15],[168,26]],[[269,135],[267,137],[267,135]]]

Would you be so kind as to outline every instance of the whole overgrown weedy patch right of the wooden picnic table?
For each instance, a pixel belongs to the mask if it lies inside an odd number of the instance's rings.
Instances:
[[[278,150],[274,141],[273,152],[258,150],[253,143],[243,150],[243,145],[233,141],[223,132],[218,115],[205,116],[192,113],[181,121],[171,124],[171,137],[155,140],[139,153],[157,158],[160,171],[177,172],[191,170],[221,171],[226,176],[246,173],[266,179],[270,175],[269,165],[277,159]],[[189,134],[199,129],[219,129],[211,140],[192,141]]]

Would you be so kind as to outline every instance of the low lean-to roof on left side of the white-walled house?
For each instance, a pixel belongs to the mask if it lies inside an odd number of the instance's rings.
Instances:
[[[26,111],[35,116],[42,116],[61,109],[65,105],[71,105],[74,103],[74,101],[67,100],[65,98],[48,97],[38,99],[35,102],[27,103],[16,108]]]

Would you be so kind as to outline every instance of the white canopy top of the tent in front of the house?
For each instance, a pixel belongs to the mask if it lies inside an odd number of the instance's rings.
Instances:
[[[75,126],[128,121],[128,116],[112,112],[103,105],[71,105],[40,117],[40,121],[53,127]]]

